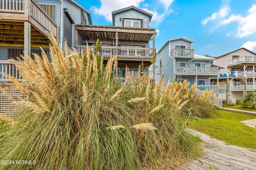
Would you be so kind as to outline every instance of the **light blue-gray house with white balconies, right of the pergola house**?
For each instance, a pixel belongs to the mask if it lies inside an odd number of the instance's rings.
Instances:
[[[196,83],[198,90],[218,92],[218,86],[210,84],[210,77],[218,75],[218,67],[210,64],[214,58],[194,54],[192,43],[194,41],[183,37],[164,43],[156,55],[156,82],[163,75],[165,85],[169,79],[188,80],[190,84]]]

